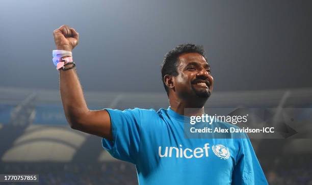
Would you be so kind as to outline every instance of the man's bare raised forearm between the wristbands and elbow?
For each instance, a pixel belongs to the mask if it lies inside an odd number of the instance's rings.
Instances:
[[[60,92],[66,119],[71,127],[89,111],[75,69],[60,70]]]

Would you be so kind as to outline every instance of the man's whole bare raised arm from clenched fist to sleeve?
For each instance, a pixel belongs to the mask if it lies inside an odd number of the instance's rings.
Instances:
[[[58,50],[72,51],[78,44],[79,34],[67,25],[54,30]],[[63,58],[66,58],[65,56]],[[70,68],[73,64],[67,65]],[[60,92],[63,109],[70,127],[92,135],[112,139],[111,120],[106,110],[90,111],[84,98],[75,68],[60,71]]]

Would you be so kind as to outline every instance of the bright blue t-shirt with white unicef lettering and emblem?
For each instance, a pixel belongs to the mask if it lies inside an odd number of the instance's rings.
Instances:
[[[140,185],[268,184],[249,139],[186,139],[170,108],[107,111],[113,140],[102,146],[136,165]]]

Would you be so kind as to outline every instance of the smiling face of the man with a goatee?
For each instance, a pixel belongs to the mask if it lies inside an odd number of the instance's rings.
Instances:
[[[213,77],[205,58],[195,52],[178,58],[178,75],[173,77],[174,90],[180,98],[208,98],[213,90]]]

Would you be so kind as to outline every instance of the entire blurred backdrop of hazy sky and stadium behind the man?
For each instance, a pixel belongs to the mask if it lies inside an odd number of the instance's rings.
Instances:
[[[204,45],[212,66],[215,87],[205,107],[312,108],[311,7],[310,1],[2,1],[0,174],[39,173],[39,184],[137,184],[134,165],[114,160],[99,137],[66,122],[51,60],[52,32],[60,25],[80,33],[73,58],[91,110],[167,108],[160,63],[185,42]],[[308,137],[251,140],[270,184],[312,184],[312,125],[302,129]]]

